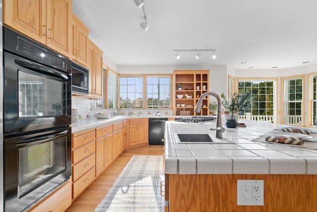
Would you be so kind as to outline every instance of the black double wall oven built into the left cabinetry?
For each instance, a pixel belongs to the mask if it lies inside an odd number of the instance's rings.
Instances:
[[[71,175],[71,61],[3,27],[4,211],[30,208]]]

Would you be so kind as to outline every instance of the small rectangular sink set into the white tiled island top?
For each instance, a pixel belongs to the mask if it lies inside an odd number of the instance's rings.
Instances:
[[[174,135],[178,143],[221,143],[221,141],[210,134],[186,134],[178,133]]]

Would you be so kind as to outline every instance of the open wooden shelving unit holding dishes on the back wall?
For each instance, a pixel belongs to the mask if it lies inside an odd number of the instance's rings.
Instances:
[[[203,107],[200,113],[194,111],[199,97],[208,92],[209,70],[174,70],[174,114],[175,115],[209,115],[209,97],[203,100]],[[178,90],[178,84],[182,84]],[[183,95],[178,99],[176,95]],[[187,98],[188,95],[191,98]],[[179,106],[178,106],[179,105]],[[185,106],[181,106],[185,105]]]

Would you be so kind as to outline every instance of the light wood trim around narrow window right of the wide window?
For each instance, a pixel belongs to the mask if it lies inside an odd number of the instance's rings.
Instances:
[[[302,78],[303,82],[303,88],[302,88],[302,124],[301,125],[305,125],[305,112],[306,112],[306,107],[305,107],[305,104],[306,104],[306,101],[305,101],[305,98],[306,98],[306,80],[305,80],[305,74],[301,74],[301,75],[293,75],[293,76],[285,76],[285,77],[281,77],[280,78],[280,123],[284,123],[284,117],[283,117],[283,114],[284,114],[284,99],[283,99],[283,94],[284,94],[284,80],[290,80],[290,79],[299,79],[299,78]]]

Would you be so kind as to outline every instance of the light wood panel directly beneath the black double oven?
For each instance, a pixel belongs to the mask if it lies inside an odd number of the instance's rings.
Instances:
[[[71,205],[71,179],[28,212],[63,212]]]

